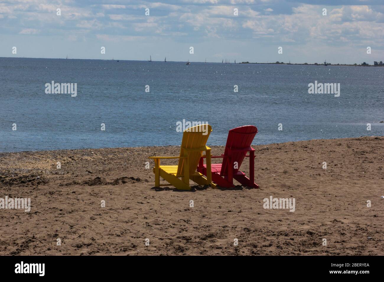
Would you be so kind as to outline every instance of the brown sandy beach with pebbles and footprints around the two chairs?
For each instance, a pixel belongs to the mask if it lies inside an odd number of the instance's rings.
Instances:
[[[31,198],[0,209],[0,255],[384,255],[384,137],[253,148],[259,189],[193,191],[153,187],[148,157],[179,147],[0,153],[0,198]]]

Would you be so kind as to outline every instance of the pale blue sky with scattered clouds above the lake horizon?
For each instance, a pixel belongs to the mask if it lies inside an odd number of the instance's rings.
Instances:
[[[384,61],[383,3],[0,0],[0,57],[373,64]]]

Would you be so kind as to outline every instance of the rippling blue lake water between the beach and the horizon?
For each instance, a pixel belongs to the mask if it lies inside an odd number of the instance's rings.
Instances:
[[[308,94],[314,81],[340,96]],[[180,145],[183,119],[212,126],[208,145],[248,124],[253,144],[384,135],[383,81],[380,67],[0,58],[0,152]]]

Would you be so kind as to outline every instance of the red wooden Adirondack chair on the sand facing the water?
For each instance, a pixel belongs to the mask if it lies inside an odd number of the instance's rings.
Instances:
[[[259,188],[255,181],[255,149],[250,147],[253,138],[257,134],[257,128],[253,125],[244,125],[229,130],[224,154],[211,158],[223,158],[222,163],[212,163],[212,181],[221,187],[234,187],[233,178],[243,186]],[[249,152],[249,155],[247,155]],[[205,156],[204,156],[205,157]],[[197,171],[207,175],[207,167],[204,165],[204,157],[200,158]],[[249,178],[239,170],[245,157],[249,158]],[[237,163],[237,165],[236,165]]]

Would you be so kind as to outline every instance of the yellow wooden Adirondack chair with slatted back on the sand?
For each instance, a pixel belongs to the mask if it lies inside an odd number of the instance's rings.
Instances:
[[[202,126],[207,127],[206,135],[203,134]],[[199,185],[210,184],[215,188],[216,185],[212,183],[210,170],[211,148],[205,145],[211,131],[212,127],[209,124],[187,128],[183,132],[179,157],[149,157],[155,162],[155,167],[153,168],[153,172],[155,173],[155,186],[160,187],[161,176],[164,180],[168,181],[170,185],[175,186],[175,188],[179,190],[190,190],[190,179]],[[197,165],[199,164],[203,151],[205,151],[206,156],[207,178],[204,178],[204,175],[197,172]],[[179,165],[160,165],[161,159],[172,158],[178,158]],[[179,178],[181,178],[181,180]],[[162,184],[161,186],[169,186],[169,184]]]

